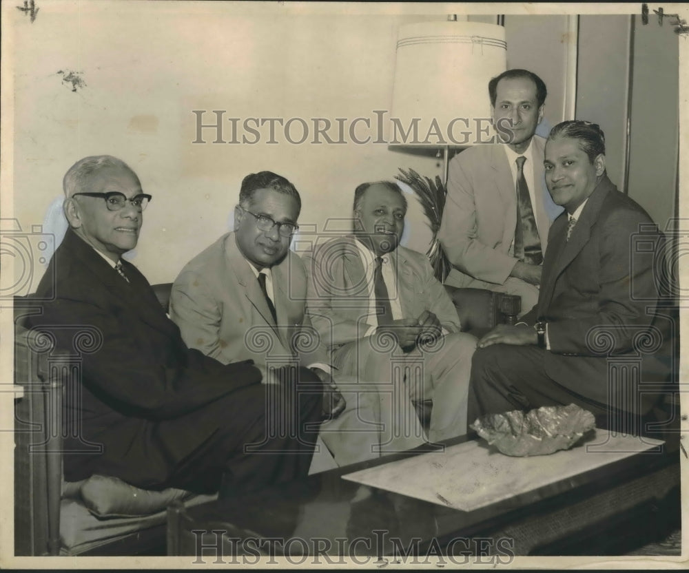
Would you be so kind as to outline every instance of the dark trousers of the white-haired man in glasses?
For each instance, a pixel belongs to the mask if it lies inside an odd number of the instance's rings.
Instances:
[[[102,451],[65,455],[65,472],[79,463],[72,471],[80,474],[76,479],[110,475],[150,490],[220,489],[225,497],[305,477],[320,428],[323,386],[306,368],[280,379],[239,388],[172,419],[129,417],[98,433],[87,426],[84,437],[100,442]]]

